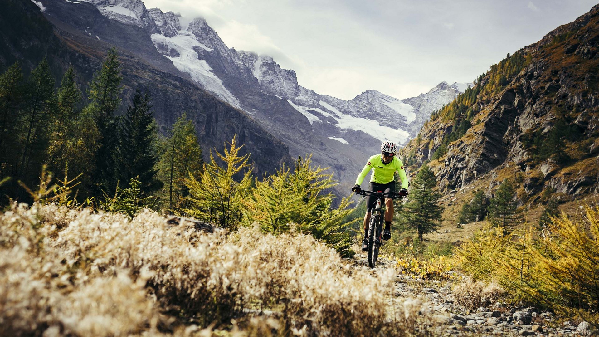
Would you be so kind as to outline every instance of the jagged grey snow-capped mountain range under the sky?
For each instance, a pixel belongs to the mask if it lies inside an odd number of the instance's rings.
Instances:
[[[41,0],[41,4],[49,8],[46,15],[60,16],[67,5],[74,6],[69,11],[76,13],[81,1],[130,29],[121,29],[115,36],[114,28],[61,18],[69,29],[134,53],[137,49],[132,46],[143,46],[143,53],[138,54],[141,59],[180,74],[243,110],[289,146],[292,157],[311,154],[314,163],[331,167],[342,188],[351,184],[365,158],[378,152],[383,140],[406,144],[433,110],[467,87],[443,82],[427,94],[407,100],[374,90],[340,100],[300,86],[295,71],[282,69],[271,56],[227,47],[201,18],[183,27],[179,14],[147,9],[140,0]],[[62,8],[52,10],[57,2]],[[132,35],[128,38],[126,34]],[[153,50],[147,50],[147,45]]]

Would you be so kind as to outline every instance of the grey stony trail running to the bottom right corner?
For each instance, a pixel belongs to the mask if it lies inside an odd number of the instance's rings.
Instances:
[[[347,259],[349,263],[368,266],[364,254]],[[396,262],[379,258],[377,268],[394,268]],[[435,336],[595,336],[589,323],[559,319],[552,312],[538,308],[516,308],[495,303],[489,308],[470,310],[455,304],[452,281],[435,281],[410,275],[395,277],[392,301],[401,306],[406,299],[418,299],[420,315],[428,315]]]

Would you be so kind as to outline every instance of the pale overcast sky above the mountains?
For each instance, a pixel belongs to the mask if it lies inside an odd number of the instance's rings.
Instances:
[[[237,50],[273,56],[299,85],[350,100],[396,98],[472,82],[507,53],[591,10],[597,0],[143,0],[202,16]]]

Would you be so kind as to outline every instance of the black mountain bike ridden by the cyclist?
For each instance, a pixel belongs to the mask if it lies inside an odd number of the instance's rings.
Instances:
[[[399,192],[385,192],[383,191],[365,191],[362,189],[358,194],[361,195],[374,195],[377,197],[374,203],[373,211],[370,215],[370,223],[368,224],[368,234],[366,242],[368,245],[368,267],[374,268],[377,258],[379,258],[379,248],[383,245],[383,222],[385,221],[385,210],[383,201],[385,196],[398,198],[401,197]]]

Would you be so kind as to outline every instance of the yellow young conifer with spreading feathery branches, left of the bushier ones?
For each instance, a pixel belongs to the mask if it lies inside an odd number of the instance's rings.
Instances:
[[[231,143],[225,144],[223,154],[216,152],[224,167],[219,166],[212,152],[210,163],[204,164],[200,179],[189,176],[185,185],[189,188],[189,208],[185,212],[224,228],[236,228],[241,221],[243,198],[252,185],[252,166],[248,164],[249,154],[239,154],[242,146],[237,146],[237,135]],[[241,179],[235,180],[240,175]]]

